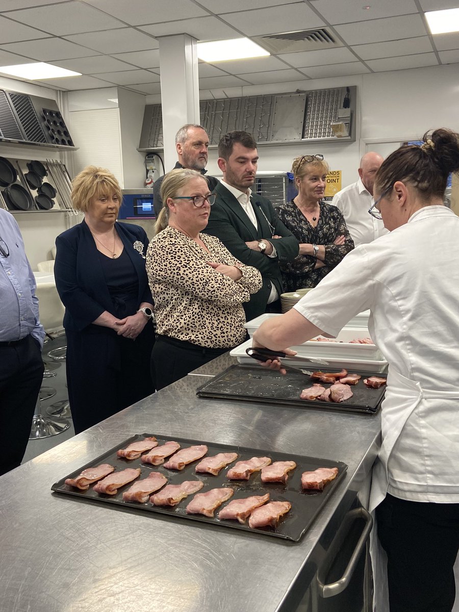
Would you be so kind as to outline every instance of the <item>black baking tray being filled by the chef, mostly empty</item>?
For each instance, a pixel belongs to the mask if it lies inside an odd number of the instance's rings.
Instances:
[[[298,367],[298,366],[297,366]],[[307,367],[307,365],[300,365]],[[323,372],[333,372],[335,369],[320,368]],[[338,367],[338,370],[340,367]],[[364,378],[375,376],[374,372],[349,370],[349,373],[362,376],[359,382],[351,386],[353,397],[346,401],[335,403],[322,400],[302,400],[303,389],[319,383],[325,389],[329,383],[321,383],[307,374],[286,366],[286,375],[277,370],[269,370],[261,365],[230,365],[222,373],[204,383],[196,394],[200,397],[218,398],[222,400],[256,401],[274,405],[296,406],[297,408],[316,408],[318,410],[341,410],[345,412],[366,412],[376,414],[383,401],[386,386],[371,389],[364,385]]]

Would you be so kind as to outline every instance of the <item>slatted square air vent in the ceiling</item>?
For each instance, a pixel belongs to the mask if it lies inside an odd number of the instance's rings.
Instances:
[[[253,40],[270,53],[293,53],[342,47],[342,43],[325,28],[282,32],[269,36],[254,36]]]

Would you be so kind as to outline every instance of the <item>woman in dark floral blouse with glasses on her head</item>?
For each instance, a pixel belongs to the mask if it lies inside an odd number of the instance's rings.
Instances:
[[[322,201],[329,171],[324,156],[296,157],[292,171],[298,195],[276,209],[300,243],[299,255],[280,264],[285,291],[315,287],[354,248],[341,212]]]

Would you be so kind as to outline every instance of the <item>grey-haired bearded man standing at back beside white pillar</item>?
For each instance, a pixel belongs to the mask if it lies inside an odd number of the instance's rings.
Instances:
[[[201,174],[206,174],[207,150],[209,149],[209,136],[202,125],[187,123],[175,135],[175,146],[179,161],[174,168],[191,168]],[[153,184],[153,207],[156,217],[163,207],[161,198],[161,184],[166,175],[160,176]],[[209,190],[214,191],[218,180],[214,176],[206,176]]]

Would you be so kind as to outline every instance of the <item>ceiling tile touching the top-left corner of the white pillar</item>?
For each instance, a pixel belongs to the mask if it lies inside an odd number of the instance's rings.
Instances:
[[[132,3],[131,3],[132,4]],[[148,34],[142,34],[134,28],[108,30],[106,32],[89,32],[89,34],[72,34],[65,39],[83,47],[89,47],[100,53],[122,53],[122,51],[145,51],[157,48],[157,42]]]

